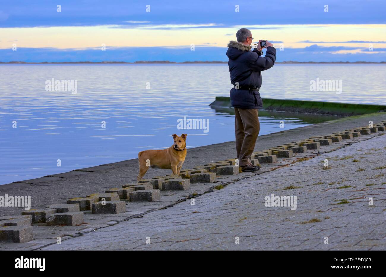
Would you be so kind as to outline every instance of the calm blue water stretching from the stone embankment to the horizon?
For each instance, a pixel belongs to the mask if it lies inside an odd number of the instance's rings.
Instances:
[[[385,104],[385,69],[275,65],[262,73],[261,95]],[[169,147],[174,133],[188,133],[188,148],[234,140],[234,116],[208,106],[215,96],[229,96],[226,64],[0,65],[0,74],[0,184],[136,158],[139,151]],[[342,80],[342,93],[311,92],[317,77]],[[52,78],[77,80],[78,93],[46,91]],[[209,119],[209,132],[177,129],[184,116]],[[260,134],[283,130],[281,120],[284,129],[310,122],[261,116]]]

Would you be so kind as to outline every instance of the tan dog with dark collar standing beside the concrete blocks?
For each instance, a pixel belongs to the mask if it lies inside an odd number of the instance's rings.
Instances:
[[[186,136],[180,137],[173,134],[174,143],[163,150],[145,150],[138,153],[139,173],[137,180],[140,181],[149,167],[171,169],[173,175],[179,175],[179,171],[186,157]]]

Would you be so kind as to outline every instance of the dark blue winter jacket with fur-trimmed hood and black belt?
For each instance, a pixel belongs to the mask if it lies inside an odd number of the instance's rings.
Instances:
[[[276,61],[276,49],[267,47],[265,58],[251,51],[251,46],[241,42],[230,41],[227,56],[230,82],[239,87],[261,87],[261,71],[271,68]],[[241,109],[261,109],[263,102],[260,93],[255,90],[230,90],[230,104]]]

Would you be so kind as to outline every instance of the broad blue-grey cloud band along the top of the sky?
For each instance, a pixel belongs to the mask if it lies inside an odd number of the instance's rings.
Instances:
[[[127,24],[205,24],[214,22],[224,27],[237,25],[284,24],[384,24],[384,0],[329,0],[329,11],[323,12],[325,0],[271,0],[261,5],[240,0],[240,11],[235,12],[232,0],[154,1],[151,12],[146,12],[142,1],[79,1],[67,0],[62,12],[49,1],[2,1],[0,21],[2,27],[37,26],[95,26]],[[92,3],[92,4],[90,4]],[[129,21],[129,22],[127,22]],[[137,22],[137,23],[132,23]],[[141,23],[144,22],[144,23]],[[319,27],[315,25],[314,27]]]

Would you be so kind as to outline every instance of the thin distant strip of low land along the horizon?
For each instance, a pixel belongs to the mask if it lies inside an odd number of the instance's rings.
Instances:
[[[134,63],[129,63],[126,61],[61,61],[61,62],[39,62],[39,63],[30,63],[26,61],[0,61],[0,64],[214,64],[214,63],[228,63],[227,61],[135,61]],[[375,61],[282,61],[277,62],[279,64],[319,64],[319,63],[337,63],[337,64],[362,64],[362,63],[375,63],[375,64],[385,64],[386,61],[375,62]]]

